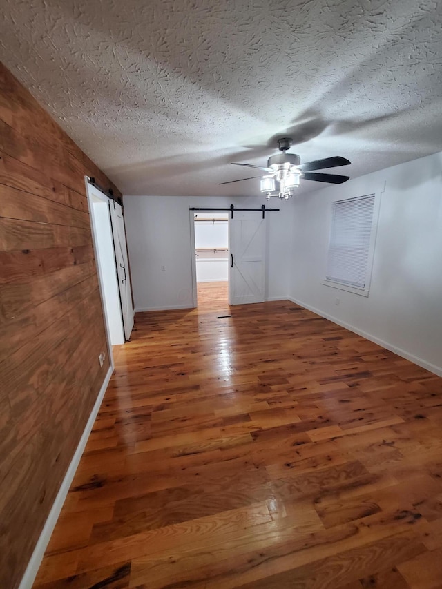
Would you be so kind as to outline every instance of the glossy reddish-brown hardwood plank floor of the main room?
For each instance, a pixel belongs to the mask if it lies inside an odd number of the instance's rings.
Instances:
[[[35,588],[442,587],[442,379],[203,299],[137,315]]]

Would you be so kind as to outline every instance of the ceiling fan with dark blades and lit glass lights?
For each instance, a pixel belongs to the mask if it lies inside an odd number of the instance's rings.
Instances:
[[[325,157],[324,160],[315,160],[301,164],[299,155],[296,153],[286,153],[290,148],[292,139],[282,137],[278,139],[278,148],[282,153],[271,155],[267,160],[267,168],[263,166],[254,166],[253,164],[233,164],[233,166],[247,166],[247,168],[258,168],[267,172],[264,176],[251,176],[241,178],[240,180],[230,180],[229,182],[220,182],[220,184],[231,184],[232,182],[242,182],[252,178],[261,178],[260,191],[266,193],[267,200],[271,196],[285,198],[289,200],[293,196],[293,190],[300,184],[301,178],[305,180],[315,180],[316,182],[330,182],[331,184],[342,184],[349,180],[349,176],[340,176],[338,174],[312,173],[312,170],[324,170],[325,168],[336,168],[338,166],[347,166],[351,162],[345,157],[336,155],[335,157]]]

